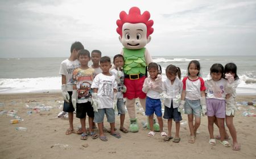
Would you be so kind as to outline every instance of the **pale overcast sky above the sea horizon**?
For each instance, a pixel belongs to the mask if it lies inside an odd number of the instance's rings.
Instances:
[[[0,1],[0,58],[68,57],[74,41],[114,56],[121,11],[149,11],[152,56],[256,55],[255,0]]]

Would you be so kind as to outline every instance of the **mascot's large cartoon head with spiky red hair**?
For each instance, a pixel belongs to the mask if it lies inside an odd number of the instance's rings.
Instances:
[[[131,7],[129,14],[121,11],[120,19],[117,20],[117,33],[123,47],[127,49],[141,49],[150,42],[150,34],[154,31],[152,28],[154,22],[150,19],[150,13],[141,10],[138,7]]]

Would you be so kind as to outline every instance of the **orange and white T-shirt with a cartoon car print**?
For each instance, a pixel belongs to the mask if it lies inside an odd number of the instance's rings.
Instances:
[[[92,99],[92,81],[94,78],[94,69],[76,69],[73,72],[73,84],[77,88],[77,103],[90,102]]]

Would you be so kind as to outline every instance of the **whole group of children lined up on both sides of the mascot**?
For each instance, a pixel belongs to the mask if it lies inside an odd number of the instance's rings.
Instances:
[[[78,59],[78,60],[77,60]],[[92,60],[93,65],[88,66]],[[104,116],[110,123],[110,135],[120,138],[121,135],[115,128],[115,109],[120,114],[119,130],[127,133],[123,127],[125,120],[125,103],[123,93],[126,87],[123,83],[124,74],[122,66],[125,60],[122,55],[115,55],[112,67],[109,57],[101,57],[100,51],[84,49],[80,42],[75,42],[71,47],[71,56],[61,62],[60,74],[62,76],[61,90],[65,99],[63,110],[69,115],[69,129],[73,130],[73,111],[76,108],[76,117],[80,118],[81,139],[87,139],[88,133],[85,127],[86,114],[89,119],[89,135],[93,139],[100,137],[102,141],[108,141],[104,134]],[[162,80],[162,68],[155,62],[146,67],[146,76],[142,91],[147,94],[146,112],[150,132],[147,136],[154,136],[154,113],[160,126],[160,136],[164,141],[174,138],[174,143],[179,143],[179,129],[181,112],[188,115],[190,137],[188,143],[195,143],[197,129],[200,126],[201,115],[208,116],[209,144],[216,145],[216,139],[225,147],[230,144],[225,139],[229,136],[225,131],[224,122],[229,128],[233,139],[233,149],[240,150],[237,142],[236,129],[233,124],[234,99],[236,99],[236,86],[238,85],[237,66],[233,63],[225,65],[213,64],[210,68],[210,80],[204,81],[200,77],[200,63],[192,60],[188,64],[188,74],[181,81],[179,67],[168,65],[166,68],[166,80]],[[164,99],[163,118],[168,120],[168,133],[163,131],[162,102]],[[195,119],[194,119],[195,118]],[[176,125],[175,137],[171,135],[172,119]],[[195,120],[195,123],[193,122]],[[99,135],[93,131],[94,123],[98,124]],[[220,135],[213,136],[213,125],[217,125]]]

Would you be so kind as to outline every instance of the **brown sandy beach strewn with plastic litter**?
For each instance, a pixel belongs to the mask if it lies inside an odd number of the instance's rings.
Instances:
[[[247,106],[247,102],[255,99],[255,95],[237,98],[238,103],[242,104],[237,106],[234,125],[241,150],[234,151],[232,147],[226,148],[218,142],[215,146],[208,143],[206,116],[201,118],[200,133],[197,134],[195,144],[188,143],[189,128],[185,114],[182,114],[180,143],[164,141],[159,132],[154,137],[147,137],[148,130],[142,127],[142,122],[147,118],[140,107],[137,107],[140,127],[138,133],[120,132],[119,116],[116,116],[115,125],[122,135],[121,139],[106,133],[109,139],[107,142],[93,140],[91,137],[80,140],[80,135],[76,133],[65,135],[69,127],[68,120],[57,118],[63,104],[61,93],[1,94],[0,158],[256,158],[256,117],[243,116],[245,111],[256,114],[254,106]],[[44,110],[35,108],[43,104],[50,107],[44,107]],[[10,120],[14,118],[7,112],[11,110],[17,111],[16,116],[23,121],[10,124]],[[172,136],[175,135],[174,125],[173,123]],[[80,121],[75,118],[74,128],[79,126]],[[125,127],[128,126],[129,116],[126,114]],[[16,127],[26,127],[27,130],[17,131]],[[109,128],[107,122],[105,127]],[[164,131],[167,132],[167,120],[164,120]],[[217,127],[214,127],[214,134],[218,134]],[[232,139],[229,143],[232,144]]]

